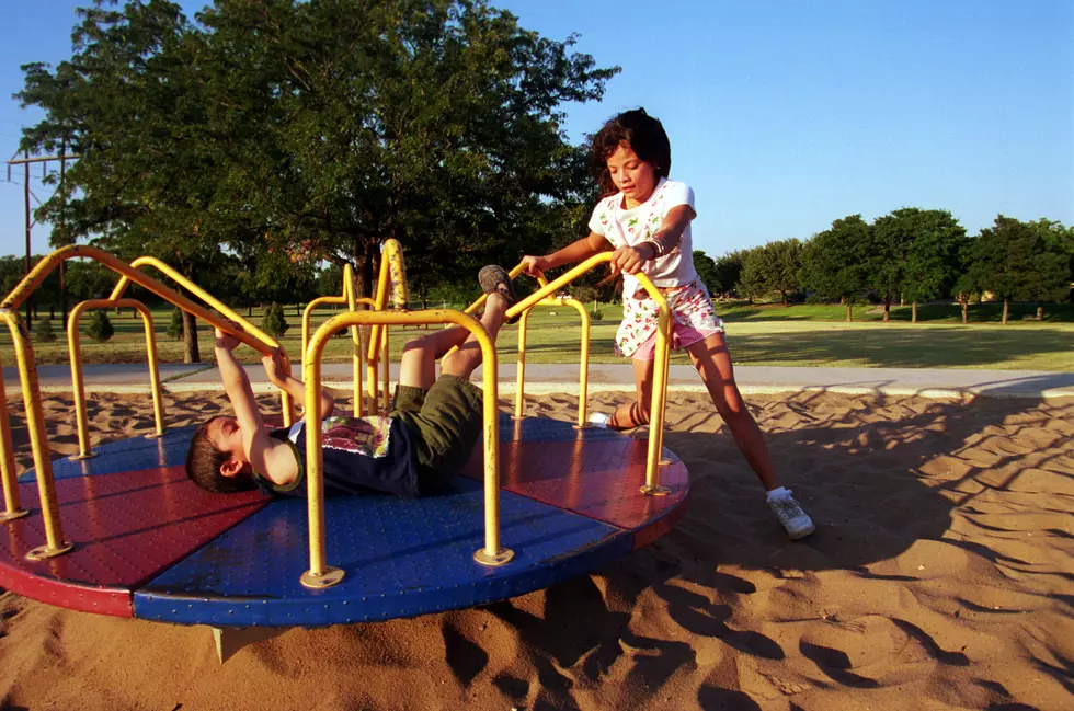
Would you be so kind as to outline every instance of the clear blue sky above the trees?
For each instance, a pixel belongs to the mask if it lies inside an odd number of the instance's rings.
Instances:
[[[37,119],[9,99],[19,65],[69,57],[82,4],[0,2],[3,159]],[[635,106],[659,116],[709,254],[904,206],[948,209],[971,233],[997,213],[1074,223],[1071,0],[493,4],[622,67],[603,103],[568,107],[568,130],[581,140]],[[21,184],[0,182],[0,254],[23,252],[22,210]],[[47,249],[47,227],[33,244]]]

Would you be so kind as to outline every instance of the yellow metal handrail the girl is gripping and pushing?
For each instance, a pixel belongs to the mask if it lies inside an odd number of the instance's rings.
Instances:
[[[507,309],[506,318],[510,319],[517,313],[525,313],[590,270],[605,262],[610,262],[612,259],[612,252],[602,252],[601,254],[591,256]],[[523,265],[519,264],[511,270],[509,274],[513,279],[522,273]],[[656,352],[653,367],[653,393],[649,421],[649,454],[645,465],[645,485],[641,488],[641,491],[651,496],[664,496],[671,492],[670,489],[660,484],[661,452],[664,444],[664,409],[667,402],[667,375],[669,359],[671,356],[671,310],[667,308],[667,300],[664,298],[664,295],[661,294],[660,289],[653,285],[647,275],[639,272],[635,276],[649,296],[656,302],[659,309]],[[480,309],[488,298],[488,295],[482,295],[481,298],[466,309],[466,313],[473,313]]]

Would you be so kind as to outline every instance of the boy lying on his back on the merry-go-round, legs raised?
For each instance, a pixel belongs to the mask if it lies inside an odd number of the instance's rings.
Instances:
[[[489,295],[481,323],[495,342],[504,311],[517,297],[511,279],[490,265],[478,276]],[[202,489],[230,493],[260,488],[306,495],[305,420],[268,431],[250,380],[231,351],[238,341],[216,332],[216,359],[235,417],[202,425],[186,454],[186,473]],[[447,354],[458,346],[458,351]],[[436,378],[436,360],[441,377]],[[304,401],[306,386],[284,376],[279,354],[262,358],[270,382]],[[333,400],[321,391],[324,493],[370,491],[420,496],[442,489],[470,457],[481,436],[483,395],[469,382],[481,346],[461,326],[410,341],[403,349],[391,413],[367,418],[332,417]]]

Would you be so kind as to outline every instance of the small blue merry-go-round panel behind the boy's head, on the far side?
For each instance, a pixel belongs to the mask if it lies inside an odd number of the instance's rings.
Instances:
[[[70,477],[93,477],[98,474],[115,474],[122,471],[155,469],[157,467],[174,467],[186,461],[186,450],[194,436],[196,426],[169,429],[159,439],[132,437],[119,441],[110,441],[93,448],[96,457],[71,461],[57,459],[53,462],[53,477],[68,479]],[[34,470],[23,473],[19,481],[30,482],[34,479]]]

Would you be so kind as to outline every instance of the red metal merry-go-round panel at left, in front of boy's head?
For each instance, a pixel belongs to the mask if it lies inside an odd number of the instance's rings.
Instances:
[[[182,466],[56,482],[64,536],[75,550],[31,562],[45,542],[37,488],[21,484],[33,514],[0,526],[0,587],[50,605],[132,617],[132,590],[260,511],[259,492],[198,489]]]

